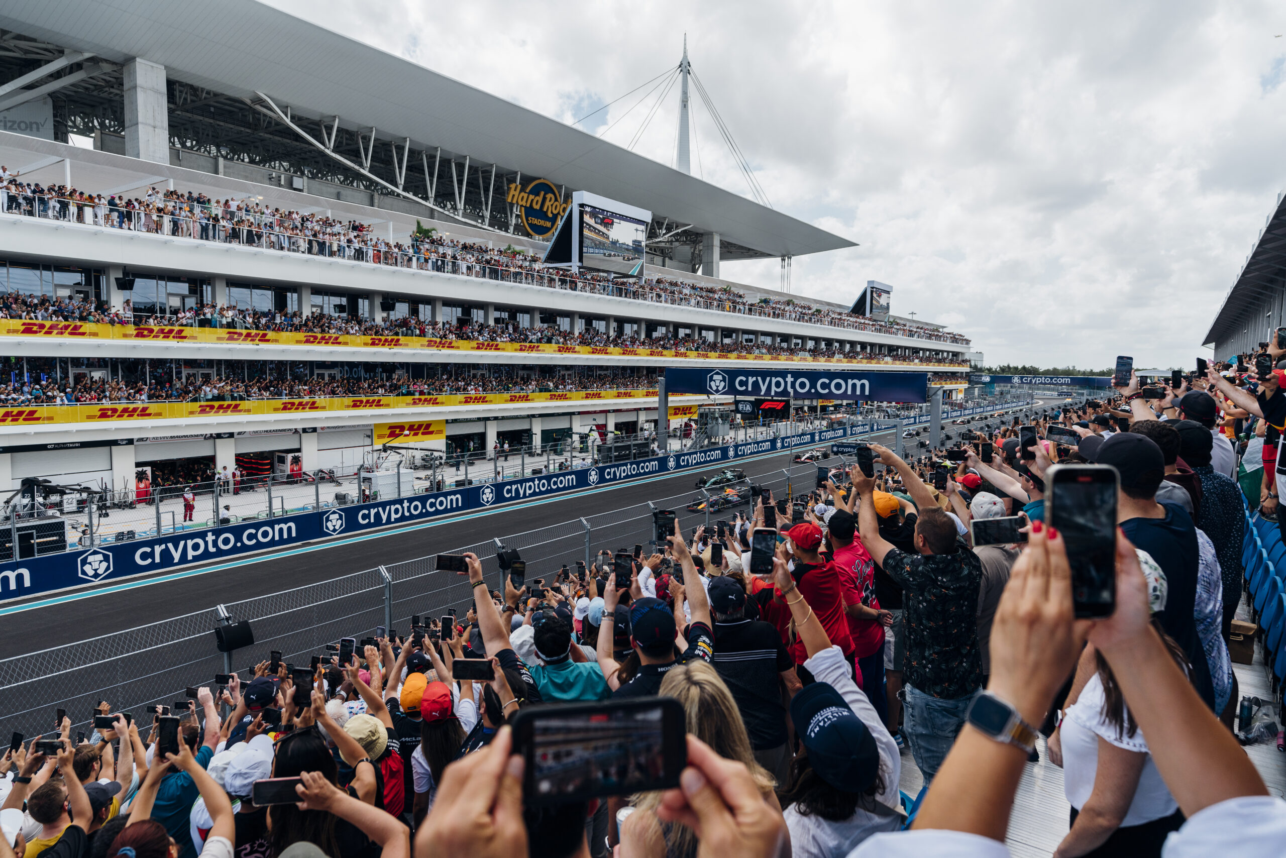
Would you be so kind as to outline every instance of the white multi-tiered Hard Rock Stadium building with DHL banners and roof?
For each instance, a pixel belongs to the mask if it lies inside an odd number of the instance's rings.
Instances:
[[[665,367],[967,383],[940,325],[719,277],[847,239],[252,0],[14,0],[0,28],[0,488],[351,470],[390,427],[441,450],[669,427],[696,405],[657,419]],[[575,192],[651,214],[633,277],[540,264]]]

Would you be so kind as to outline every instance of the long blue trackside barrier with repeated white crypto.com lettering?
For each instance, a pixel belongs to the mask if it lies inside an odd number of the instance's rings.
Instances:
[[[994,410],[994,409],[979,409]],[[827,444],[867,435],[871,426],[800,432],[775,439],[671,453],[634,462],[572,468],[520,480],[482,482],[463,489],[431,491],[392,500],[328,507],[275,518],[188,531],[156,539],[107,543],[60,554],[32,557],[0,567],[0,601],[62,590],[85,584],[159,572],[188,563],[224,560],[266,549],[360,533],[373,527],[487,509],[567,491],[594,489],[639,477],[664,476],[689,468],[772,455],[796,446]]]

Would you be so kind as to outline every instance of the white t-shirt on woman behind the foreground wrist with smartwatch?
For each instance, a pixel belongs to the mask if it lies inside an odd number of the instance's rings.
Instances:
[[[1062,722],[1062,791],[1067,801],[1078,810],[1085,807],[1089,794],[1094,790],[1094,773],[1098,769],[1098,740],[1103,738],[1116,747],[1138,754],[1147,754],[1138,787],[1130,801],[1129,810],[1121,821],[1121,827],[1137,826],[1152,819],[1161,819],[1179,809],[1169,787],[1156,771],[1156,763],[1147,750],[1143,731],[1133,736],[1124,732],[1118,736],[1116,728],[1102,715],[1103,683],[1096,673],[1085,683],[1080,697],[1067,710]]]

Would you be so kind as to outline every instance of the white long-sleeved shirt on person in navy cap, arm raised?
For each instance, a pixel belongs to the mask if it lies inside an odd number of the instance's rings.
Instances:
[[[858,688],[849,674],[849,662],[837,646],[818,652],[804,662],[818,682],[824,682],[840,692],[844,702],[871,731],[880,751],[880,768],[885,789],[876,799],[887,808],[900,807],[898,781],[901,777],[901,755],[889,729],[865,693]],[[847,819],[831,822],[822,817],[800,814],[795,805],[786,808],[786,827],[791,832],[791,854],[793,858],[837,858],[846,855],[854,846],[880,831],[896,831],[901,825],[898,816],[876,816],[863,808]]]

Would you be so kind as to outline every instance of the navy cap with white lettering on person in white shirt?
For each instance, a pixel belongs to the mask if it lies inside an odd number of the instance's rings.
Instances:
[[[876,740],[833,686],[814,682],[795,695],[791,720],[823,781],[844,792],[865,792],[876,782]]]

